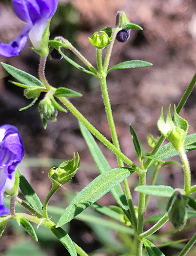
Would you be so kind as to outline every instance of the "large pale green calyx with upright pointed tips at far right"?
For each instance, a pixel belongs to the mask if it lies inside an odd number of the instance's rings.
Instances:
[[[159,131],[164,135],[176,148],[180,150],[184,145],[184,139],[187,135],[189,124],[181,118],[176,112],[176,106],[174,106],[174,117],[170,114],[171,105],[168,108],[166,122],[163,117],[163,108],[161,109],[160,118],[158,119],[157,126]]]

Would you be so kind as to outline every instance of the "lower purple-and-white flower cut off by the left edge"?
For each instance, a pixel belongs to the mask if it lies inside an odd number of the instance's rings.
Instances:
[[[12,190],[15,169],[24,157],[24,146],[19,130],[9,124],[0,126],[0,216],[9,213],[5,207],[4,191]]]

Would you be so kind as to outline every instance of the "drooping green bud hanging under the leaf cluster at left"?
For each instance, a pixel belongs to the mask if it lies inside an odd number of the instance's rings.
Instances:
[[[38,106],[44,129],[47,127],[47,121],[57,121],[57,107],[51,97],[50,94],[46,94],[45,98],[39,102]]]

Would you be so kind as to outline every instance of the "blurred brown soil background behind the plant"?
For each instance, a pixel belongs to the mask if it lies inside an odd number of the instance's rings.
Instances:
[[[129,70],[117,70],[108,75],[108,89],[119,136],[122,152],[137,163],[134,146],[131,140],[129,123],[134,127],[141,142],[143,152],[150,151],[146,137],[152,133],[159,136],[157,119],[160,109],[164,113],[170,103],[177,104],[186,90],[193,75],[196,73],[196,1],[195,0],[59,0],[57,13],[51,21],[51,39],[62,36],[72,42],[89,61],[96,65],[96,50],[88,41],[95,31],[116,22],[118,10],[126,12],[127,17],[143,27],[142,31],[132,30],[131,38],[126,43],[115,42],[110,67],[131,59],[141,59],[153,63],[152,67]],[[0,2],[0,40],[8,42],[17,37],[23,22],[12,11],[10,0]],[[19,57],[4,58],[0,61],[11,64],[21,70],[38,76],[39,57],[28,47],[28,41]],[[79,64],[80,61],[69,51],[64,53]],[[30,109],[20,112],[19,109],[30,103],[23,97],[22,88],[9,83],[12,79],[0,66],[0,125],[9,123],[16,125],[22,135],[26,158],[20,169],[36,190],[41,201],[50,189],[47,177],[48,170],[54,166],[52,159],[71,159],[73,152],[78,152],[81,167],[66,189],[60,189],[50,203],[60,205],[70,193],[80,191],[94,177],[98,170],[93,163],[88,148],[82,138],[78,121],[70,113],[60,113],[57,122],[48,123],[47,130],[42,127],[36,103]],[[48,59],[46,77],[56,87],[65,86],[80,92],[83,97],[71,99],[71,102],[95,125],[108,139],[111,139],[107,118],[101,98],[98,80],[72,67],[65,60]],[[189,122],[189,134],[196,132],[196,89],[193,90],[188,102],[181,111],[181,116]],[[116,157],[100,145],[112,168],[117,167]],[[193,182],[196,181],[196,153],[188,153]],[[35,160],[34,158],[41,158]],[[42,159],[44,158],[44,159]],[[179,158],[175,158],[179,160]],[[56,161],[57,162],[57,161]],[[152,175],[149,171],[148,183]],[[131,188],[137,186],[137,175],[129,177]],[[183,173],[180,167],[167,165],[158,176],[157,184],[167,184],[173,187],[183,186]],[[134,203],[137,204],[137,193],[132,189]],[[164,200],[165,204],[167,200]],[[65,207],[65,203],[63,207]],[[115,204],[111,195],[107,194],[99,200],[102,205]],[[145,213],[145,218],[164,212],[165,204],[159,198],[152,198]],[[162,208],[161,208],[162,207]],[[14,224],[13,224],[14,225]],[[190,238],[196,231],[194,219],[188,221],[190,228],[177,235],[170,236],[172,226],[168,223],[161,231],[168,232],[165,237],[172,239]],[[150,224],[145,228],[149,228]],[[96,255],[119,255],[118,252],[101,253],[102,243],[98,233],[92,231],[92,226],[79,220],[70,225],[70,236],[88,253],[99,252]],[[22,240],[18,230],[10,226],[0,239],[0,255],[6,254],[10,246]],[[47,231],[46,231],[47,232]],[[21,230],[20,230],[21,233]],[[96,235],[97,234],[97,235]],[[116,235],[115,235],[116,236]],[[119,238],[119,237],[118,237]],[[13,242],[10,242],[10,239]],[[25,238],[29,240],[30,238]],[[40,238],[41,239],[41,238]],[[122,240],[122,237],[119,240]],[[31,240],[31,239],[30,239]],[[41,244],[41,243],[40,243]],[[43,255],[66,255],[65,249],[53,241],[52,247],[42,241]],[[174,248],[166,247],[163,252],[167,256],[176,255]],[[41,255],[41,254],[40,254]],[[189,253],[189,256],[195,253]]]

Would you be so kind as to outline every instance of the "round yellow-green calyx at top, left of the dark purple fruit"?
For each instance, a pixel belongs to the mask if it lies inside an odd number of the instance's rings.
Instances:
[[[89,38],[89,41],[98,49],[103,49],[111,43],[113,37],[109,37],[104,31],[100,31],[100,33],[102,33],[101,35],[98,33],[99,32],[95,32],[92,39]]]

